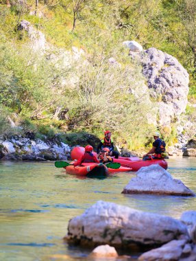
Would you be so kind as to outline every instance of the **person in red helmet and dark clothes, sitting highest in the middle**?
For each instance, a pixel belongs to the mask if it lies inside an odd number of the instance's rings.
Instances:
[[[111,131],[104,131],[104,135],[105,137],[101,139],[99,146],[97,147],[97,154],[99,154],[99,150],[103,150],[103,148],[108,148],[110,150],[109,155],[114,156],[115,159],[118,159],[119,153],[117,151],[114,151],[114,144],[111,138]]]

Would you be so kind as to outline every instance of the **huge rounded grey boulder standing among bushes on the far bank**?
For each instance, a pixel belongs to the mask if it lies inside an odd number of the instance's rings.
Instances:
[[[176,58],[156,48],[145,50],[141,62],[151,97],[158,102],[158,124],[169,124],[186,109],[188,73]]]

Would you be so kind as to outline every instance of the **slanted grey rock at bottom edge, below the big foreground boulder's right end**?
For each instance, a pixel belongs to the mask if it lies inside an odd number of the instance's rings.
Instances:
[[[186,240],[172,240],[158,249],[152,249],[143,253],[138,260],[140,261],[173,261],[179,260],[182,256]]]

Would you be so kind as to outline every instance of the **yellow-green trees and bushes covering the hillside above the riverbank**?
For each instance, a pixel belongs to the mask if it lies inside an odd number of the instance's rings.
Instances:
[[[195,16],[194,0],[1,0],[0,134],[13,131],[10,115],[22,126],[15,132],[102,137],[110,128],[118,144],[140,148],[154,131],[146,121],[151,108],[145,95],[130,93],[130,87],[140,93],[145,80],[121,43],[135,40],[175,56],[190,73],[189,98],[195,99]],[[53,59],[35,51],[27,32],[17,29],[23,19],[45,34]],[[57,48],[73,46],[84,51],[83,60],[64,65]],[[111,57],[118,63],[110,65]],[[169,143],[175,141],[175,124],[159,127]]]

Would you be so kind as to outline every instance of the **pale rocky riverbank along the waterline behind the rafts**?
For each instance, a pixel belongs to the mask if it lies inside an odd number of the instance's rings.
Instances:
[[[0,139],[0,159],[4,161],[56,161],[70,160],[70,152],[73,146],[85,146],[91,144],[97,147],[99,139],[94,135],[86,134],[84,137],[70,140],[69,145],[62,142],[60,135],[53,139],[36,139],[34,137],[23,137],[16,135],[9,139]],[[142,157],[145,150],[129,151],[118,148],[123,157]],[[191,139],[184,147],[169,146],[167,152],[170,157],[196,157],[196,140]]]

